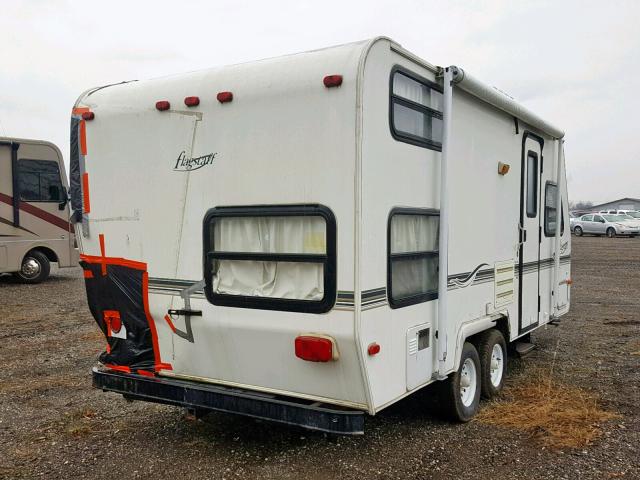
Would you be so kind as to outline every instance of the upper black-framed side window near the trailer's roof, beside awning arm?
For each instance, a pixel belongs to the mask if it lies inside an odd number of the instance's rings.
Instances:
[[[442,150],[442,89],[403,68],[391,73],[390,126],[396,140]]]

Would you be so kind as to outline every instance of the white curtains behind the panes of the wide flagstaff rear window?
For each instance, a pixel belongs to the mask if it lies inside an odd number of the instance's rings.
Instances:
[[[322,217],[224,217],[212,226],[219,252],[326,253]],[[322,263],[217,260],[213,290],[220,294],[321,300]]]

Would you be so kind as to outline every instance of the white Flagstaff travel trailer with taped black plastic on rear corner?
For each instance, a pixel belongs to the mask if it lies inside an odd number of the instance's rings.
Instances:
[[[388,38],[88,90],[94,385],[362,433],[440,381],[469,420],[569,309],[563,136]]]

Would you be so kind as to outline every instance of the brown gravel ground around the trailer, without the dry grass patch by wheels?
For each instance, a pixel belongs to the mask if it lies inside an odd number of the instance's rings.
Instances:
[[[1,276],[0,478],[640,478],[640,240],[574,238],[572,260],[570,314],[536,332],[509,380],[552,371],[620,415],[593,444],[564,450],[444,422],[430,388],[368,418],[361,437],[128,403],[91,387],[104,342],[81,271],[37,286]]]

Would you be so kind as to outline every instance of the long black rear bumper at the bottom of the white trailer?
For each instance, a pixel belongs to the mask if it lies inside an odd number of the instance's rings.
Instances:
[[[290,397],[198,382],[146,377],[93,368],[93,386],[126,398],[180,407],[235,413],[310,430],[361,435],[364,412]]]

